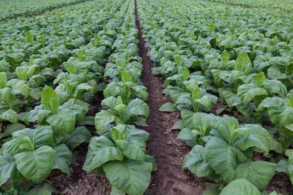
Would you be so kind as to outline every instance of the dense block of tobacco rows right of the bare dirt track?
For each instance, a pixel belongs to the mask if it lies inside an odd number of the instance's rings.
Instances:
[[[281,18],[274,26],[262,18],[266,12],[188,3],[138,1],[148,55],[157,65],[153,73],[166,78],[164,93],[173,100],[160,110],[180,111],[182,120],[172,129],[182,129],[178,138],[192,147],[182,168],[222,183],[207,195],[267,193],[275,170],[290,177],[291,150],[289,161],[282,156],[292,142],[292,37],[269,33],[281,30]],[[219,102],[227,105],[214,114],[233,111],[238,120],[208,114]],[[261,124],[268,120],[274,129]],[[253,152],[271,150],[271,162],[251,160]]]

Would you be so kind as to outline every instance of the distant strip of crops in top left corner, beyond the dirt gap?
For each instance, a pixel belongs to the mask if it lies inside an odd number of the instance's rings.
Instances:
[[[42,14],[48,10],[83,1],[85,0],[1,0],[0,21]]]

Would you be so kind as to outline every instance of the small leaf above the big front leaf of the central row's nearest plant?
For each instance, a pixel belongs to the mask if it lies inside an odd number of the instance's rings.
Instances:
[[[137,140],[130,140],[123,151],[123,154],[130,159],[145,160],[146,145]]]

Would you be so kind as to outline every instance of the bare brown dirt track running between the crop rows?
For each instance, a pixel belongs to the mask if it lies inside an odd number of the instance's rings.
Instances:
[[[181,164],[183,157],[190,148],[182,140],[176,139],[178,131],[172,131],[173,124],[180,119],[179,112],[163,113],[159,107],[169,101],[162,94],[164,78],[152,74],[153,61],[147,56],[146,41],[140,25],[135,2],[136,25],[139,29],[139,56],[143,59],[143,72],[141,80],[149,94],[146,103],[150,115],[147,118],[148,127],[143,127],[150,135],[146,152],[155,157],[158,170],[152,173],[152,181],[148,193],[152,195],[202,195],[205,190],[204,181],[183,171]]]

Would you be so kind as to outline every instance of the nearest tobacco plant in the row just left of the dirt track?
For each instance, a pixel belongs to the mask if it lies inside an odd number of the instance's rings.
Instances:
[[[150,173],[157,170],[154,157],[145,154],[149,134],[134,125],[117,124],[104,135],[91,138],[83,169],[105,173],[122,193],[142,195]]]

